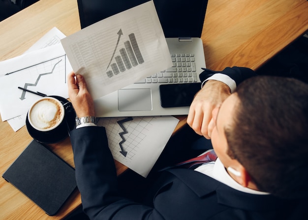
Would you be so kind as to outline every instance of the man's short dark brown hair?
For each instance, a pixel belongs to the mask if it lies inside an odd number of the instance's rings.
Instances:
[[[233,124],[225,127],[228,155],[259,190],[308,196],[308,84],[256,76],[240,84],[236,95]]]

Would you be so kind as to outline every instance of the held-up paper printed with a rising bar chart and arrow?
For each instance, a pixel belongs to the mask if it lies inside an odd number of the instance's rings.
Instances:
[[[153,1],[97,22],[61,40],[93,99],[172,66]]]

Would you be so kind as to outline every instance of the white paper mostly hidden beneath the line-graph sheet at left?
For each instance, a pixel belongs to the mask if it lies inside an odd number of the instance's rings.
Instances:
[[[60,40],[63,39],[65,35],[56,27],[48,31],[43,37],[41,37],[37,42],[35,42],[25,53],[29,53],[35,50],[45,48],[47,46],[52,46],[61,43]],[[16,132],[26,124],[27,114],[17,116],[12,119],[8,119],[8,124]]]

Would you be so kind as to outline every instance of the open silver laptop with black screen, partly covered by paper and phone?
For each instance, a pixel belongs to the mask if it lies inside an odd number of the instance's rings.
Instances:
[[[148,0],[77,0],[81,28]],[[154,0],[173,66],[94,101],[97,117],[187,115],[189,107],[162,107],[160,85],[200,82],[206,67],[201,33],[208,0]]]

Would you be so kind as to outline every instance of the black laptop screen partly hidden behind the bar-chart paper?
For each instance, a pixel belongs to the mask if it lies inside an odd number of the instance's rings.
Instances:
[[[77,0],[81,28],[148,0]],[[154,0],[165,37],[201,37],[208,0]]]

